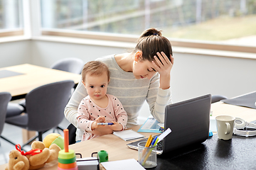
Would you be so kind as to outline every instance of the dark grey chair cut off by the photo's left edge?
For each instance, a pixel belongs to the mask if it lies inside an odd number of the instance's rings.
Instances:
[[[11,101],[11,94],[8,92],[1,92],[0,93],[0,136],[1,132],[3,132],[4,129],[4,123],[6,120],[6,110],[7,110],[7,105]],[[4,140],[6,140],[4,137],[1,137]],[[9,142],[7,140],[7,142]]]

